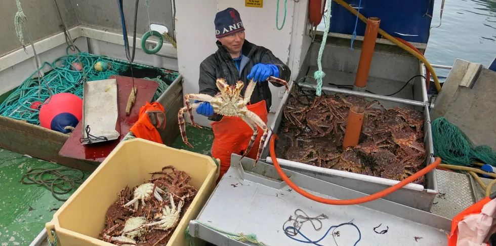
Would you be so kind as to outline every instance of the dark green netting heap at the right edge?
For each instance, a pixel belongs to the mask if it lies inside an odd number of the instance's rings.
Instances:
[[[474,146],[472,141],[457,126],[440,117],[432,121],[434,154],[449,165],[472,166],[481,161],[496,166],[496,152],[489,146]]]

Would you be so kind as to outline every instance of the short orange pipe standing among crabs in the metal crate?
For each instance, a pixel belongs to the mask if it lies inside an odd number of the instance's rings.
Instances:
[[[348,113],[348,122],[346,122],[345,138],[343,140],[343,150],[358,144],[360,131],[363,124],[363,114],[365,110],[360,107],[351,107]]]

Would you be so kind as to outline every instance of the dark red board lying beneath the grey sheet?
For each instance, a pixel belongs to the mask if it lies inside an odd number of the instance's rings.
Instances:
[[[129,129],[138,120],[141,106],[151,101],[158,88],[158,83],[153,80],[135,78],[134,85],[138,88],[136,102],[131,109],[131,113],[126,115],[126,106],[128,104],[129,94],[133,88],[133,79],[132,77],[125,76],[110,76],[109,78],[117,79],[120,137],[112,141],[82,145],[79,141],[82,137],[82,122],[80,121],[62,149],[60,149],[60,155],[102,162],[112,152],[115,146],[117,146],[120,140],[128,134]]]

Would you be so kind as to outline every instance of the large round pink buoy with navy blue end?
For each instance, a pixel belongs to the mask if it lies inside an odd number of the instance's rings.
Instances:
[[[82,99],[71,93],[53,95],[50,102],[43,104],[39,110],[39,124],[61,133],[69,133],[70,130],[65,127],[75,128],[81,118]]]

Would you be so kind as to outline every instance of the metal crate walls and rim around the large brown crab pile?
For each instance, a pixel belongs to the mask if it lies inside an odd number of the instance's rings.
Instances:
[[[290,92],[294,89],[295,83],[290,83]],[[313,85],[301,85],[303,88],[314,88]],[[424,144],[427,152],[427,157],[425,160],[426,166],[430,163],[434,162],[434,149],[432,144],[432,132],[431,132],[431,120],[428,110],[428,104],[419,101],[406,100],[401,98],[393,98],[393,97],[385,97],[380,95],[374,95],[363,92],[355,92],[349,90],[342,90],[336,88],[322,87],[323,92],[333,93],[342,93],[346,95],[354,95],[365,97],[368,99],[378,99],[379,101],[388,101],[394,103],[399,107],[408,107],[411,109],[421,110],[423,109],[425,122],[424,122]],[[276,111],[275,119],[270,126],[268,139],[271,137],[273,133],[278,133],[279,127],[281,125],[282,117],[283,117],[283,108],[287,102],[289,97],[289,93],[286,93],[282,101]],[[264,150],[262,152],[261,159],[265,159],[266,162],[272,163],[272,159],[269,156],[269,141],[264,145]],[[319,168],[311,165],[307,165],[301,162],[295,162],[290,160],[279,159],[279,165],[282,167],[292,170],[295,172],[299,172],[304,175],[308,175],[310,177],[314,177],[323,181],[331,182],[349,189],[353,189],[359,192],[363,192],[366,194],[373,194],[378,191],[384,190],[399,181],[379,178],[374,176],[362,175],[362,174],[354,174],[351,172]],[[432,203],[434,198],[438,194],[438,185],[436,180],[436,170],[429,172],[426,175],[426,186],[418,185],[418,184],[408,184],[403,188],[397,190],[393,194],[390,194],[384,199],[394,201],[405,206],[423,210],[430,211],[432,207]]]

